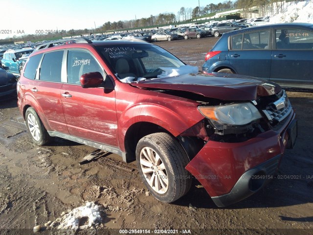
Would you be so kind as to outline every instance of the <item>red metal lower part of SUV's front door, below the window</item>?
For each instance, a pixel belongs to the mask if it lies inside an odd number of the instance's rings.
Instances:
[[[72,95],[70,98],[61,96],[70,135],[118,146],[114,90],[104,94],[103,88],[64,83],[61,94]]]

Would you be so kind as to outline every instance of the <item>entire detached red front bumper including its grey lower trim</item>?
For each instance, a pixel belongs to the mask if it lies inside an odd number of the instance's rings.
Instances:
[[[239,202],[273,179],[285,149],[294,146],[295,114],[286,119],[279,130],[269,130],[248,141],[208,141],[185,168],[218,207]]]

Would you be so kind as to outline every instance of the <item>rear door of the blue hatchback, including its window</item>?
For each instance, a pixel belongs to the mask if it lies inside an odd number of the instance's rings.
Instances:
[[[231,36],[229,64],[238,74],[269,79],[271,49],[269,30]]]

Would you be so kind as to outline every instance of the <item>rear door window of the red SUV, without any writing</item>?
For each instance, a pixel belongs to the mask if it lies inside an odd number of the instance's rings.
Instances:
[[[63,50],[45,53],[40,67],[39,79],[50,82],[61,82]]]

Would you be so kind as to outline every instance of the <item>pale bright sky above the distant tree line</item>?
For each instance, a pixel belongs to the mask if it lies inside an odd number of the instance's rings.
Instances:
[[[223,0],[200,0],[200,6],[219,2]],[[108,21],[148,18],[159,13],[177,15],[180,7],[195,8],[198,4],[198,0],[0,0],[0,39],[21,36],[22,30],[35,34],[36,30],[91,29]]]

